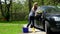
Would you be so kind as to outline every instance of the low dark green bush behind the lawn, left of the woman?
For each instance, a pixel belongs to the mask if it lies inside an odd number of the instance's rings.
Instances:
[[[11,20],[27,20],[28,19],[28,12],[19,12],[19,13],[12,13]]]

